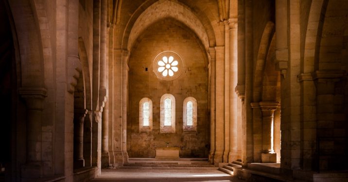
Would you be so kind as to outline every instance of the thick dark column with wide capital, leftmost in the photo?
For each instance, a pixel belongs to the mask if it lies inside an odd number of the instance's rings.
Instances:
[[[26,163],[21,167],[23,178],[43,176],[42,163],[42,105],[47,96],[44,88],[20,88],[19,94],[27,108]]]

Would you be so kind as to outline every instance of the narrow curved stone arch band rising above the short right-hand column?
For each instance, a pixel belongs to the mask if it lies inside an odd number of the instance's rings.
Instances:
[[[261,101],[262,94],[262,78],[265,69],[265,61],[267,59],[267,53],[271,45],[272,39],[275,34],[274,23],[267,22],[261,37],[259,51],[257,54],[257,61],[254,66],[254,81],[253,81],[253,100],[254,102]]]

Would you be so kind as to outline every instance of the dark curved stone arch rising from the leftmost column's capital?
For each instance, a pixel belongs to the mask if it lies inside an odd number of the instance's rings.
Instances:
[[[15,22],[21,60],[21,87],[44,87],[44,61],[35,4],[29,0],[9,1]],[[23,23],[23,21],[25,23]],[[35,80],[35,81],[32,81]]]

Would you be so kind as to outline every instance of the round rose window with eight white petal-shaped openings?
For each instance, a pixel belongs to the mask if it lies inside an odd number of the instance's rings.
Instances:
[[[159,53],[154,60],[154,72],[163,80],[173,80],[180,76],[183,68],[181,57],[174,51]]]

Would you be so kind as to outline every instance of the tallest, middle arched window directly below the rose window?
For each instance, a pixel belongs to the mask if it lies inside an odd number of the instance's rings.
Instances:
[[[162,95],[160,106],[160,133],[175,133],[174,96],[169,93]]]

